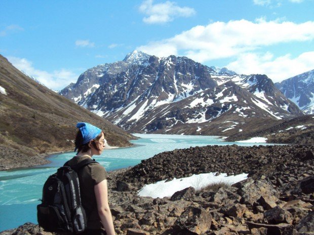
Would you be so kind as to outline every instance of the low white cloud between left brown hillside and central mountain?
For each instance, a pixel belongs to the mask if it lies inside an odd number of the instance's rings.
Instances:
[[[55,70],[52,73],[49,73],[47,71],[35,69],[32,66],[32,62],[24,58],[8,57],[8,60],[17,69],[24,71],[29,76],[33,76],[50,89],[62,89],[71,82],[76,82],[78,78],[77,74],[68,69]]]

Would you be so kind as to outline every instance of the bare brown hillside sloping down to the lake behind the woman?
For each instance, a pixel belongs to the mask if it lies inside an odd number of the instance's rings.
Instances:
[[[33,81],[1,55],[0,86],[7,92],[0,92],[0,169],[40,164],[38,154],[73,150],[79,121],[102,128],[111,146],[130,146],[134,138]]]

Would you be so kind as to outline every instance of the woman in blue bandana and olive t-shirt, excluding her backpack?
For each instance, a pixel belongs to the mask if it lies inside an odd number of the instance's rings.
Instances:
[[[77,154],[68,161],[74,166],[81,161],[100,155],[105,147],[104,132],[86,122],[77,123],[79,129],[75,138]],[[82,235],[114,235],[114,227],[108,205],[107,172],[98,163],[91,163],[78,172],[82,205],[87,215],[87,229]]]

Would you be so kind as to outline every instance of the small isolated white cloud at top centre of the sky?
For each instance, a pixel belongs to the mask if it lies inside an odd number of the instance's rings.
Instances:
[[[147,16],[143,18],[143,22],[147,24],[163,24],[177,17],[190,17],[195,14],[193,8],[179,7],[175,2],[170,1],[153,4],[153,0],[144,1],[139,11]]]

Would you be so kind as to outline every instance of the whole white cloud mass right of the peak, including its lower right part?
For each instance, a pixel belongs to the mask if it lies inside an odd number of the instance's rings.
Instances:
[[[216,59],[233,59],[234,62],[226,65],[229,69],[244,74],[264,73],[277,81],[313,69],[314,62],[308,56],[312,54],[273,58],[271,52],[258,53],[267,51],[266,47],[270,45],[313,40],[314,21],[294,23],[260,18],[255,22],[237,20],[195,26],[171,38],[141,45],[136,50],[159,57],[186,56],[206,64]]]

